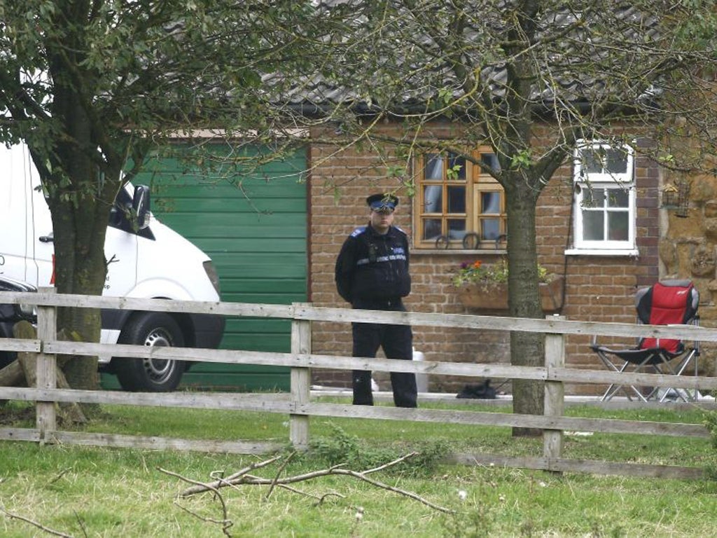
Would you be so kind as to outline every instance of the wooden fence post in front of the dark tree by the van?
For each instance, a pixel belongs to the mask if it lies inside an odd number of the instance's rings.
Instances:
[[[54,294],[54,288],[39,288],[39,293]],[[37,307],[37,338],[41,342],[41,348],[47,341],[57,340],[57,307]],[[37,388],[57,388],[57,357],[53,354],[41,351],[37,354]],[[37,415],[37,430],[39,431],[40,442],[48,439],[49,434],[57,430],[57,415],[55,414],[54,402],[35,402],[35,413]]]

